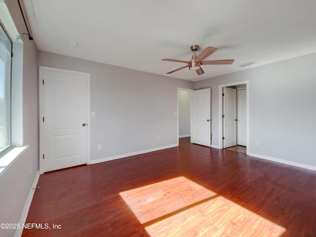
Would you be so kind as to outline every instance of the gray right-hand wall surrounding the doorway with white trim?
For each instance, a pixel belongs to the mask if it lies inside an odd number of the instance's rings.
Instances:
[[[315,62],[313,53],[196,82],[211,87],[212,144],[219,145],[219,85],[249,80],[249,153],[316,166]]]

